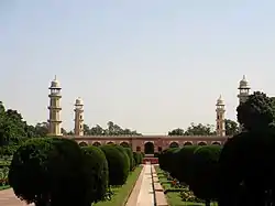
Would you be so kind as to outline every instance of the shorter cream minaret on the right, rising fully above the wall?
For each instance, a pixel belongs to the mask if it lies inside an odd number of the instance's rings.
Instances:
[[[224,109],[224,101],[221,99],[221,96],[219,97],[219,99],[217,100],[217,104],[216,104],[216,112],[217,112],[217,119],[216,119],[216,122],[217,122],[217,128],[216,128],[216,131],[217,131],[217,135],[221,135],[221,137],[224,137],[226,135],[226,109]]]

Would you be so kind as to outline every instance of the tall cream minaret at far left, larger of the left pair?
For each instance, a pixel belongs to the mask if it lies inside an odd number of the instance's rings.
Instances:
[[[62,130],[61,130],[61,124],[62,124],[62,119],[61,119],[61,84],[56,79],[56,76],[54,80],[51,83],[51,86],[48,87],[50,89],[50,106],[48,106],[48,111],[50,111],[50,119],[48,121],[48,135],[55,137],[55,135],[62,135]]]

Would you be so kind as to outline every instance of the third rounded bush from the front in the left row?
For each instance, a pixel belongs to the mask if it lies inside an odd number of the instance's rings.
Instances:
[[[123,185],[129,175],[129,163],[125,153],[121,152],[118,147],[106,144],[100,149],[105,152],[109,166],[109,184],[113,186]]]

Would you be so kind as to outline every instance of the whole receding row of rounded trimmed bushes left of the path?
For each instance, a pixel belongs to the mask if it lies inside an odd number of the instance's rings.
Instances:
[[[121,145],[80,148],[69,139],[36,138],[15,151],[8,178],[28,204],[88,206],[105,200],[109,186],[123,185],[141,163],[142,153]]]

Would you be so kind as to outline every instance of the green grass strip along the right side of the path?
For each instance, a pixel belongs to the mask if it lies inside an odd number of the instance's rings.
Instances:
[[[167,181],[164,172],[160,169],[160,166],[155,166],[160,183],[163,185],[164,189],[173,188],[170,183]],[[202,206],[204,203],[190,203],[190,202],[183,202],[179,192],[170,192],[166,194],[167,202],[169,206]],[[212,203],[212,206],[217,206],[217,204]]]

